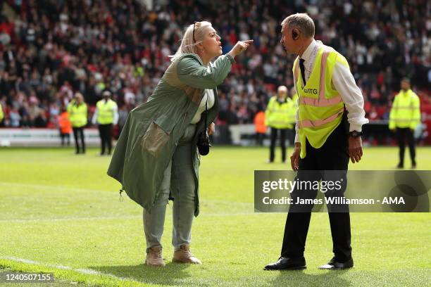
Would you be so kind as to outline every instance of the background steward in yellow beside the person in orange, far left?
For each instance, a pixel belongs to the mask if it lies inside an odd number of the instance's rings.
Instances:
[[[76,93],[68,104],[69,120],[72,123],[73,136],[75,137],[76,154],[85,153],[84,128],[88,121],[88,108],[84,102],[84,96]],[[81,145],[80,145],[81,142]]]

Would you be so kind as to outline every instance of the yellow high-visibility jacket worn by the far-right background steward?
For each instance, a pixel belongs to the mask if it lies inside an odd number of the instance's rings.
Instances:
[[[400,91],[394,98],[389,113],[389,129],[409,127],[416,129],[420,123],[420,101],[411,89]]]

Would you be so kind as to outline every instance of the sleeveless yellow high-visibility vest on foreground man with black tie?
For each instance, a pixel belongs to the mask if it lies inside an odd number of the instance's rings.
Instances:
[[[320,148],[342,121],[344,102],[331,83],[336,63],[349,68],[344,56],[328,46],[320,45],[310,78],[304,87],[299,57],[294,61],[294,81],[299,95],[301,158],[306,156],[306,139],[313,148]]]

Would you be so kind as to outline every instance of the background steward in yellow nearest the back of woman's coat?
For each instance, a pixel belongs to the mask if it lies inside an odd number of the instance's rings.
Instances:
[[[118,106],[115,101],[111,100],[111,91],[104,91],[103,98],[96,103],[92,122],[97,123],[99,127],[99,136],[101,140],[100,155],[105,154],[108,148],[108,155],[111,155],[112,149],[112,127],[118,122]]]

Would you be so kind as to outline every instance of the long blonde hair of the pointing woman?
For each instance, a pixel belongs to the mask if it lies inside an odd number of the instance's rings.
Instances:
[[[182,36],[180,47],[177,49],[174,55],[169,56],[170,61],[173,62],[177,60],[177,58],[180,58],[180,56],[186,53],[197,54],[196,45],[204,41],[205,34],[208,28],[211,28],[211,27],[213,27],[213,25],[211,25],[211,23],[208,21],[196,22],[192,25],[189,25],[185,29],[184,35]],[[194,37],[193,37],[193,30],[194,30]]]

